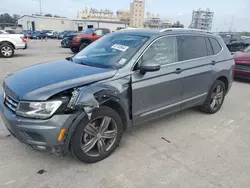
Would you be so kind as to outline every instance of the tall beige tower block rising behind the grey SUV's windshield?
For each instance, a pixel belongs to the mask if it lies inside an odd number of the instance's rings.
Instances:
[[[145,2],[144,0],[134,0],[130,4],[130,26],[144,27]]]

